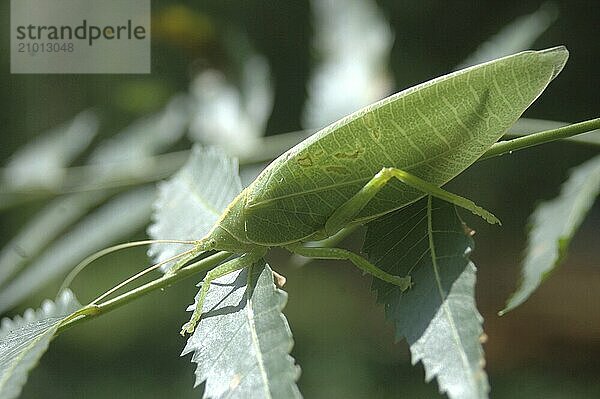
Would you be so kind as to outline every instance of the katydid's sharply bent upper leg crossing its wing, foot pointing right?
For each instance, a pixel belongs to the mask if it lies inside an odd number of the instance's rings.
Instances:
[[[492,215],[482,207],[477,206],[469,199],[452,194],[451,192],[448,192],[434,184],[428,183],[425,180],[420,179],[415,175],[411,175],[403,170],[396,168],[383,168],[371,180],[369,180],[369,182],[367,182],[367,184],[365,184],[358,193],[354,194],[352,198],[350,198],[348,201],[342,204],[342,206],[336,209],[335,212],[333,212],[333,214],[325,223],[325,232],[331,236],[340,231],[342,228],[346,227],[354,220],[356,215],[360,213],[360,211],[369,203],[369,201],[375,197],[379,190],[381,190],[381,188],[385,186],[392,178],[396,178],[402,183],[422,191],[424,194],[443,199],[444,201],[448,201],[454,205],[468,209],[475,215],[481,216],[488,223],[500,224],[500,221],[498,218],[496,218],[496,216]]]

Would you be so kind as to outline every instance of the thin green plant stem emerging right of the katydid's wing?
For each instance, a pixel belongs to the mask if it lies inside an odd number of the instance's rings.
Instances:
[[[486,151],[485,154],[479,158],[479,160],[481,161],[483,159],[488,159],[499,155],[510,154],[513,151],[522,150],[538,144],[549,143],[555,140],[565,139],[595,129],[600,129],[600,118],[574,123],[558,129],[533,133],[528,136],[519,137],[513,140],[501,141],[494,144],[492,148]]]

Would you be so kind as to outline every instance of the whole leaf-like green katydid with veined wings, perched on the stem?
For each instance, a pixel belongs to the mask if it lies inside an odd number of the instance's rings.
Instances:
[[[213,280],[252,265],[271,247],[309,258],[348,260],[365,273],[408,289],[410,276],[390,275],[346,249],[303,243],[335,236],[425,195],[499,223],[488,211],[440,186],[505,133],[567,58],[563,46],[521,52],[422,83],[333,123],[275,159],[227,206],[205,237],[185,242],[193,249],[137,276],[178,259],[167,272],[176,273],[206,251],[239,255],[208,271],[182,334],[193,332]]]

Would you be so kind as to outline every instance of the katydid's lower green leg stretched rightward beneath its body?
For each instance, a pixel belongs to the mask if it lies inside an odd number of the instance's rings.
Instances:
[[[305,247],[302,245],[288,246],[287,249],[293,253],[313,259],[338,259],[348,260],[352,262],[363,272],[372,275],[387,283],[394,284],[402,291],[411,287],[412,282],[410,276],[394,276],[388,272],[378,268],[362,256],[343,248],[321,248],[321,247]]]

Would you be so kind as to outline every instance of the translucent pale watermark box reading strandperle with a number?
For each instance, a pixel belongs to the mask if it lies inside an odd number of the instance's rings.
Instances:
[[[150,0],[11,0],[11,73],[150,73]]]

